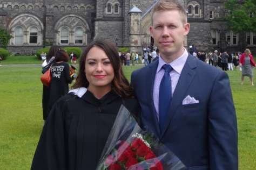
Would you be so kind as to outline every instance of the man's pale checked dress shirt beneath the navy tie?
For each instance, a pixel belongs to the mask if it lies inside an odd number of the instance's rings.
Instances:
[[[173,92],[177,86],[181,71],[186,63],[187,57],[188,57],[188,52],[186,49],[184,53],[181,56],[179,56],[179,58],[172,61],[171,63],[166,63],[163,59],[161,59],[161,56],[159,57],[159,62],[158,62],[158,67],[156,71],[156,77],[154,78],[154,87],[153,87],[153,101],[154,101],[154,108],[157,111],[157,117],[159,115],[159,110],[158,110],[159,109],[158,108],[159,87],[160,87],[161,80],[164,76],[164,69],[161,69],[161,68],[165,64],[171,65],[173,68],[172,71],[170,72],[171,82],[172,82],[172,95],[173,95]]]

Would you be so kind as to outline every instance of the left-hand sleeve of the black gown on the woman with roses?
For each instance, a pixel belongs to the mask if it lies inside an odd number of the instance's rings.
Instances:
[[[65,128],[63,108],[56,103],[43,127],[31,170],[68,169],[65,151]]]

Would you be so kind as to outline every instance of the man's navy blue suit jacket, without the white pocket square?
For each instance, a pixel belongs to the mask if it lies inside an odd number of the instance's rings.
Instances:
[[[160,133],[153,104],[157,66],[158,61],[152,62],[131,75],[143,125],[156,133],[187,169],[237,170],[237,119],[228,75],[188,55]],[[187,95],[199,103],[183,105]]]

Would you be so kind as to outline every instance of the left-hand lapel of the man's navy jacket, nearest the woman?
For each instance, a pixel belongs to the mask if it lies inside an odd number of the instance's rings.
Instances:
[[[150,91],[150,100],[151,103],[151,109],[152,112],[150,114],[152,114],[152,117],[153,117],[153,121],[154,121],[154,129],[156,129],[156,132],[158,134],[158,136],[160,136],[160,128],[159,128],[159,123],[158,123],[158,118],[157,118],[157,112],[156,112],[156,109],[154,108],[154,100],[153,100],[153,90],[154,90],[154,79],[156,77],[156,71],[157,71],[157,66],[158,66],[158,60],[157,61],[154,61],[152,62],[150,65],[149,65],[149,81],[150,81],[150,86],[149,89],[147,89],[148,91]]]

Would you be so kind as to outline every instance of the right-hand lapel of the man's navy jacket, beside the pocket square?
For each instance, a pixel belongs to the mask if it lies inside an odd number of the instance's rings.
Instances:
[[[183,67],[183,70],[181,71],[179,81],[172,96],[172,102],[170,104],[169,112],[166,118],[163,133],[161,133],[161,137],[163,137],[167,127],[172,121],[174,114],[176,114],[177,107],[182,104],[182,101],[185,98],[186,91],[188,87],[190,87],[190,84],[194,79],[194,75],[196,74],[193,70],[194,68],[196,68],[196,59],[192,55],[188,55],[187,61]]]

